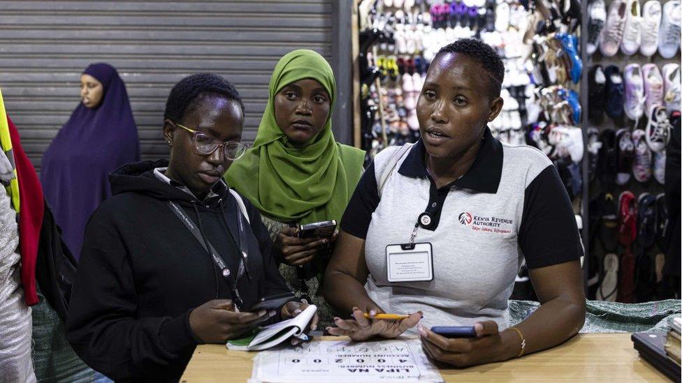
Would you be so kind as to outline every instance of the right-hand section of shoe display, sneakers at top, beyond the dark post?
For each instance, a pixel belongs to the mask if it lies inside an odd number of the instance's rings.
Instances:
[[[589,298],[665,299],[669,290],[658,286],[651,265],[662,262],[657,255],[667,246],[655,239],[666,235],[667,213],[658,206],[665,207],[672,113],[680,110],[680,1],[593,0],[587,8],[592,36],[586,40],[588,118],[582,128],[594,173],[587,184],[588,225],[595,226],[589,228],[588,269],[596,269],[589,290],[596,296]],[[614,209],[618,230],[604,213]]]

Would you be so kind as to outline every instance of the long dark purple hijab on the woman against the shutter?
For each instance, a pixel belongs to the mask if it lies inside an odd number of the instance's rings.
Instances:
[[[43,154],[41,169],[45,198],[76,258],[87,220],[111,195],[108,174],[140,160],[138,130],[118,72],[94,63],[83,73],[102,83],[101,103],[92,109],[78,104]]]

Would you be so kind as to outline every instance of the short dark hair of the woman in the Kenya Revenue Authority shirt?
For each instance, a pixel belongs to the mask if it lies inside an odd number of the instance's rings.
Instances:
[[[505,64],[493,47],[475,38],[463,38],[440,48],[436,57],[444,53],[461,53],[478,61],[490,76],[488,91],[493,98],[500,97],[505,80]],[[435,59],[434,59],[435,60]]]

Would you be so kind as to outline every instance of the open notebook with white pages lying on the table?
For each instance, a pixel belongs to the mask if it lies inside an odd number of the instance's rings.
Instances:
[[[228,340],[226,346],[229,350],[259,351],[279,345],[291,338],[291,336],[305,339],[303,330],[305,330],[305,327],[312,320],[316,312],[317,306],[307,306],[303,313],[296,315],[296,317],[290,320],[283,320],[282,322],[264,326],[260,329],[259,333],[248,338]]]

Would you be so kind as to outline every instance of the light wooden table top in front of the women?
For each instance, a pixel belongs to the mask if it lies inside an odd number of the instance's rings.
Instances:
[[[322,337],[322,339],[338,339]],[[180,382],[245,382],[255,352],[229,351],[224,345],[201,345]],[[440,370],[447,382],[665,382],[667,378],[639,357],[630,333],[582,334],[568,342],[521,359],[462,370]]]

